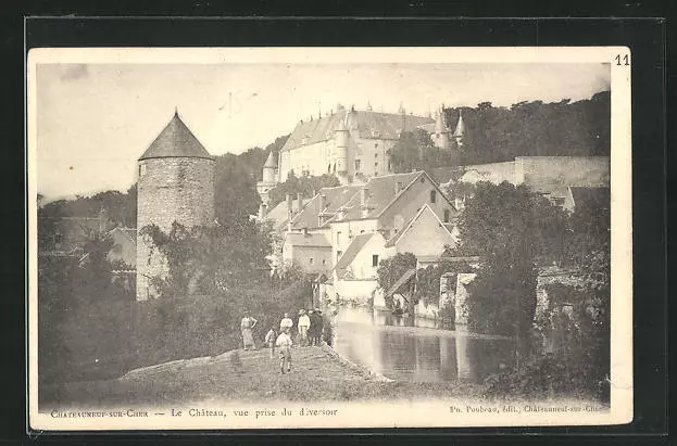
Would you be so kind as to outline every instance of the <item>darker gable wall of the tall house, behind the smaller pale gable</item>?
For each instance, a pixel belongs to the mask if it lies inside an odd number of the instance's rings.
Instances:
[[[425,179],[424,182],[421,182],[422,178]],[[437,214],[439,219],[444,221],[444,209],[452,211],[452,205],[440,191],[437,191],[436,202],[430,203],[431,190],[437,189],[430,179],[425,175],[421,176],[415,180],[415,183],[402,192],[400,197],[378,218],[378,228],[392,231],[396,229],[396,216],[399,215],[401,217],[402,227],[397,229],[404,229],[404,225],[406,225],[426,203],[430,206],[430,209]]]

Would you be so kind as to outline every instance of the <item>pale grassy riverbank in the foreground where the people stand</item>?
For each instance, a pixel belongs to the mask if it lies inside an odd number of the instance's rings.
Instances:
[[[268,349],[231,351],[181,359],[105,381],[47,386],[40,406],[116,407],[185,405],[211,399],[239,402],[392,400],[422,397],[481,399],[481,386],[446,382],[397,382],[356,366],[330,347],[296,347],[291,373],[279,372]]]

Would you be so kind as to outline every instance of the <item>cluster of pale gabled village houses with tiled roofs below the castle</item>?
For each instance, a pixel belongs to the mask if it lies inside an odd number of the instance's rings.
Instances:
[[[406,249],[439,257],[446,245],[453,245],[457,215],[424,171],[323,188],[291,216],[283,258],[306,272],[331,271],[327,295],[364,301],[378,286],[380,260]],[[417,238],[422,243],[414,247]],[[329,262],[318,264],[327,254]]]

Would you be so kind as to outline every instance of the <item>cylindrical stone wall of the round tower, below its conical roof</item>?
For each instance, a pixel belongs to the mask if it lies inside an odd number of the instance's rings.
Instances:
[[[174,221],[188,228],[214,220],[214,161],[193,157],[139,162],[137,208],[137,300],[156,295],[149,279],[167,273],[166,260],[143,238],[141,229],[156,225],[168,232]]]

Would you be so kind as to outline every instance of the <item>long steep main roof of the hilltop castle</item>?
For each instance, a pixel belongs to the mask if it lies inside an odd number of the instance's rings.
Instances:
[[[360,138],[398,139],[401,131],[411,131],[422,125],[435,123],[432,118],[399,113],[373,111],[341,111],[318,119],[299,122],[281,151],[289,151],[303,144],[314,144],[334,137],[341,120],[349,130],[356,130]]]

